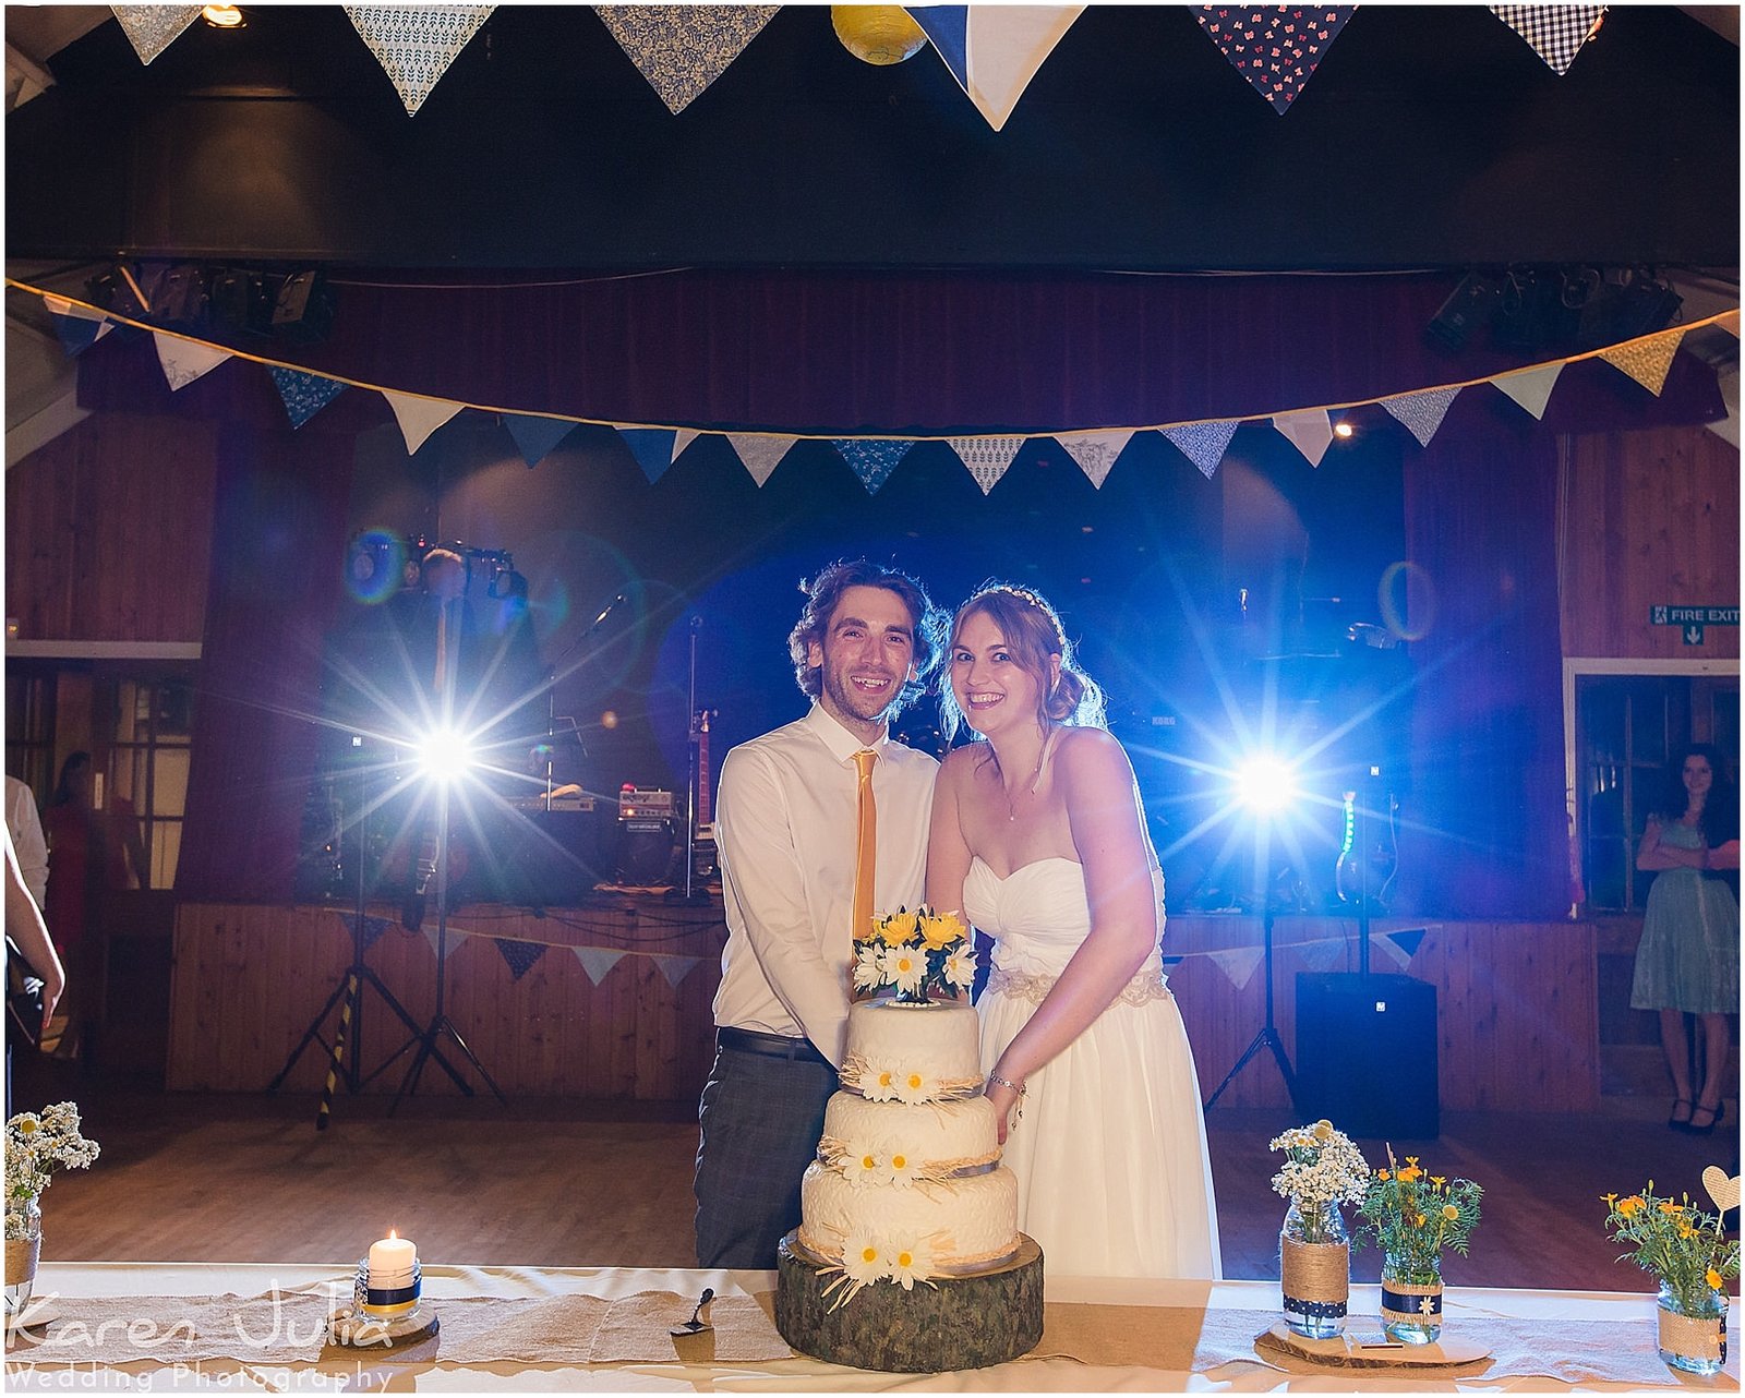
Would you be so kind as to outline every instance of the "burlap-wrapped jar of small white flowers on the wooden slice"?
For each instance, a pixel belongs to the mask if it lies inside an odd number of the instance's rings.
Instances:
[[[1370,1164],[1330,1120],[1293,1126],[1269,1148],[1284,1152],[1272,1189],[1291,1201],[1279,1230],[1284,1323],[1314,1340],[1333,1339],[1345,1332],[1351,1302],[1351,1236],[1338,1206],[1363,1197]]]

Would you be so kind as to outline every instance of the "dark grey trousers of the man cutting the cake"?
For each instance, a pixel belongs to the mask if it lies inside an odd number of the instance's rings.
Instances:
[[[799,1227],[799,1176],[818,1152],[836,1070],[715,1049],[696,1150],[696,1265],[775,1267]]]

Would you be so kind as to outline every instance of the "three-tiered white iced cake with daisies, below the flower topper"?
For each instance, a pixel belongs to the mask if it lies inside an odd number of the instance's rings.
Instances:
[[[850,1281],[991,1269],[1019,1246],[1017,1180],[1000,1164],[967,1004],[857,1004],[818,1159],[801,1180],[799,1244]]]

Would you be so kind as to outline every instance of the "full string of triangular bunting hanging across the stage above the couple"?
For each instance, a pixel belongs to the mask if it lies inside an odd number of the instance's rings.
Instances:
[[[1567,365],[1581,360],[1604,360],[1619,373],[1635,380],[1656,398],[1666,386],[1666,375],[1679,353],[1684,337],[1693,330],[1715,325],[1738,335],[1740,312],[1726,311],[1689,325],[1658,330],[1621,344],[1602,349],[1588,349],[1579,354],[1548,360],[1537,365],[1508,370],[1487,379],[1466,379],[1450,384],[1434,384],[1412,393],[1394,393],[1377,398],[1359,398],[1345,403],[1326,403],[1316,407],[1288,407],[1270,412],[1242,414],[1225,419],[1194,419],[1185,422],[1150,422],[1134,428],[1063,428],[1047,433],[1016,433],[991,436],[946,436],[946,435],[845,435],[825,436],[815,433],[773,433],[773,431],[703,431],[700,428],[665,426],[651,422],[614,422],[600,417],[574,417],[553,412],[529,412],[492,403],[469,403],[450,398],[433,398],[421,393],[370,384],[359,379],[316,373],[283,360],[270,360],[260,354],[230,349],[227,346],[201,340],[176,330],[164,330],[145,321],[136,321],[112,311],[103,311],[87,302],[47,291],[40,286],[5,279],[9,286],[38,295],[56,325],[56,333],[68,354],[82,354],[96,344],[112,326],[124,326],[150,333],[157,344],[159,363],[164,379],[173,393],[180,393],[188,384],[209,373],[225,360],[243,360],[265,367],[272,373],[274,386],[284,403],[291,428],[304,426],[323,407],[337,398],[344,389],[368,389],[379,393],[394,414],[407,454],[412,456],[422,447],[438,428],[457,417],[461,412],[485,412],[497,415],[517,450],[529,468],[537,466],[550,456],[564,438],[578,426],[612,428],[625,449],[635,459],[642,475],[653,485],[693,443],[703,438],[726,438],[752,480],[763,487],[782,459],[799,442],[829,442],[867,494],[876,494],[892,473],[909,454],[916,442],[944,442],[956,452],[965,469],[986,496],[998,485],[1007,468],[1019,450],[1030,442],[1056,442],[1078,464],[1085,478],[1101,489],[1108,473],[1127,450],[1133,438],[1141,433],[1157,433],[1180,450],[1194,466],[1211,480],[1223,461],[1235,431],[1244,422],[1269,422],[1274,431],[1284,436],[1302,452],[1310,466],[1319,466],[1333,440],[1331,414],[1347,412],[1359,407],[1382,407],[1394,417],[1420,447],[1427,447],[1441,428],[1448,408],[1461,393],[1485,386],[1497,389],[1523,412],[1539,419],[1544,415]]]

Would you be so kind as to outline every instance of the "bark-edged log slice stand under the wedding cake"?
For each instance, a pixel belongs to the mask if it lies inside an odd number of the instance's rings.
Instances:
[[[794,1234],[777,1248],[775,1328],[803,1354],[886,1374],[942,1374],[1028,1354],[1042,1340],[1042,1248],[1019,1234],[1009,1262],[981,1276],[942,1276],[906,1292],[862,1286],[846,1305],[824,1295],[841,1272],[811,1262]]]

